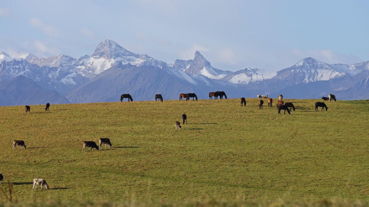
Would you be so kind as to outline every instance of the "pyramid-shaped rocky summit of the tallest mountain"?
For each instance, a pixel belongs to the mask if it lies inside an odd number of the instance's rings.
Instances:
[[[95,52],[92,54],[92,56],[94,57],[102,57],[106,60],[130,55],[135,54],[124,49],[122,46],[118,45],[118,43],[110,39],[106,39],[104,42],[100,42],[99,46],[97,46]]]

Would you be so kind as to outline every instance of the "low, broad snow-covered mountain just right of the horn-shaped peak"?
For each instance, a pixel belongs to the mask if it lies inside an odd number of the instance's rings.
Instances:
[[[270,72],[260,69],[251,69],[245,67],[244,69],[232,72],[220,80],[228,81],[232,84],[249,84],[253,82],[263,81],[273,78],[277,75],[277,72]]]

